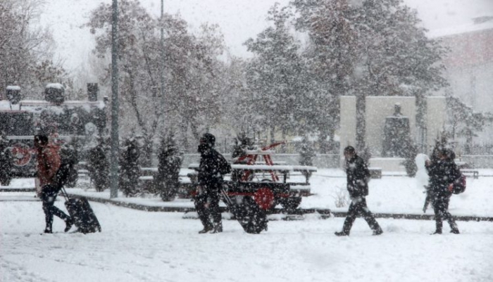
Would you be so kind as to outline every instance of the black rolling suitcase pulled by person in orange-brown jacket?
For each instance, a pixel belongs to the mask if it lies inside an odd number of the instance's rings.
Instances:
[[[85,234],[96,231],[101,232],[101,225],[99,225],[96,214],[92,211],[87,198],[70,198],[65,188],[62,188],[62,193],[65,198],[65,207],[70,217],[72,217],[75,226],[77,226],[78,231]]]

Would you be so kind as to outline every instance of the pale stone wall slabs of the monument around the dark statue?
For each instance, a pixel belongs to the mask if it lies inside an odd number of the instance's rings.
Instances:
[[[447,118],[447,101],[444,96],[428,96],[425,98],[425,118],[423,130],[416,123],[416,97],[413,96],[367,96],[366,97],[366,146],[370,149],[371,167],[379,167],[384,172],[405,172],[401,165],[405,158],[384,157],[383,139],[385,138],[385,120],[389,117],[389,109],[395,108],[396,103],[401,105],[399,112],[408,117],[408,142],[418,143],[424,152],[428,153],[435,146],[435,139],[443,131]],[[340,155],[345,146],[356,146],[356,96],[341,96],[340,129],[337,132],[340,142]],[[391,115],[392,117],[392,115]],[[419,130],[418,130],[419,129]],[[420,135],[421,134],[421,135]],[[422,143],[420,143],[422,142]],[[407,144],[409,144],[407,143]],[[387,153],[386,153],[387,155]],[[344,158],[341,158],[341,164]]]

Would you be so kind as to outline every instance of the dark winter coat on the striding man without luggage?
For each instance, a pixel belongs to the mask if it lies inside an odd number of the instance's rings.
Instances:
[[[358,155],[346,160],[347,191],[351,198],[368,196],[370,171]]]

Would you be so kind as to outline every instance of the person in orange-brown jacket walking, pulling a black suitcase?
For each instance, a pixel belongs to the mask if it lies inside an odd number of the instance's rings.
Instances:
[[[58,148],[49,143],[48,140],[48,136],[46,135],[35,136],[37,176],[42,189],[40,198],[43,203],[44,219],[46,222],[44,233],[53,232],[54,215],[65,221],[65,232],[68,232],[73,224],[72,219],[54,205],[58,191],[61,188],[54,184],[56,172],[61,165],[60,155],[58,155]]]

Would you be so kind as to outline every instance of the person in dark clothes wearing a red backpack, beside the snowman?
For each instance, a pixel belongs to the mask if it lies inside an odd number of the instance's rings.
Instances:
[[[454,162],[454,151],[444,148],[439,150],[438,158],[426,162],[430,176],[430,191],[433,211],[435,212],[436,230],[432,234],[442,234],[442,221],[449,222],[451,233],[458,234],[458,227],[449,212],[454,181],[461,177],[461,171]]]

